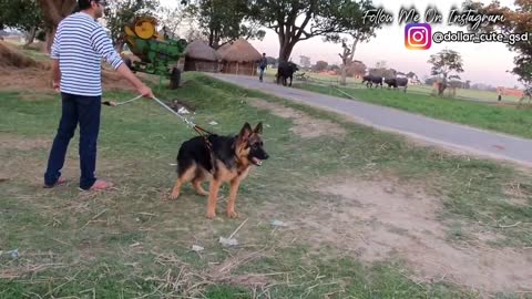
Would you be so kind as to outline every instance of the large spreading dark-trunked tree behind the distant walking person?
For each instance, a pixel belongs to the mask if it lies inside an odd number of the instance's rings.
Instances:
[[[279,60],[288,61],[297,42],[339,34],[360,16],[351,0],[252,0],[252,18],[279,39]]]

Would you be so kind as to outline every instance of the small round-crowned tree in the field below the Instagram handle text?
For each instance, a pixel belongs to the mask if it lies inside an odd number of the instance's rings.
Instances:
[[[462,58],[454,50],[444,49],[437,54],[430,55],[428,63],[432,64],[431,74],[441,78],[442,82],[438,86],[438,95],[442,95],[447,89],[447,79],[450,72],[461,73]]]

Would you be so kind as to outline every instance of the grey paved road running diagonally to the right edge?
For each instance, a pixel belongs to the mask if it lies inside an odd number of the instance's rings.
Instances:
[[[257,78],[252,76],[219,73],[211,75],[246,89],[345,114],[378,130],[408,135],[462,153],[512,161],[532,167],[532,140],[438,121],[359,101],[284,87],[273,83],[260,83]]]

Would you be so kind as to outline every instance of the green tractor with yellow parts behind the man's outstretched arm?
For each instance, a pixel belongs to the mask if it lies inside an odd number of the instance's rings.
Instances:
[[[156,31],[157,22],[154,18],[136,18],[125,30],[125,43],[140,61],[124,59],[133,72],[155,74],[162,79],[170,79],[170,87],[180,86],[181,70],[178,60],[184,56],[186,41],[172,40],[162,37]]]

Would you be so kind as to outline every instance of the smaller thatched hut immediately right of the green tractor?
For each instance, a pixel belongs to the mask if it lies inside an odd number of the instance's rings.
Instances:
[[[185,49],[185,71],[218,72],[218,54],[204,41],[191,42]]]

